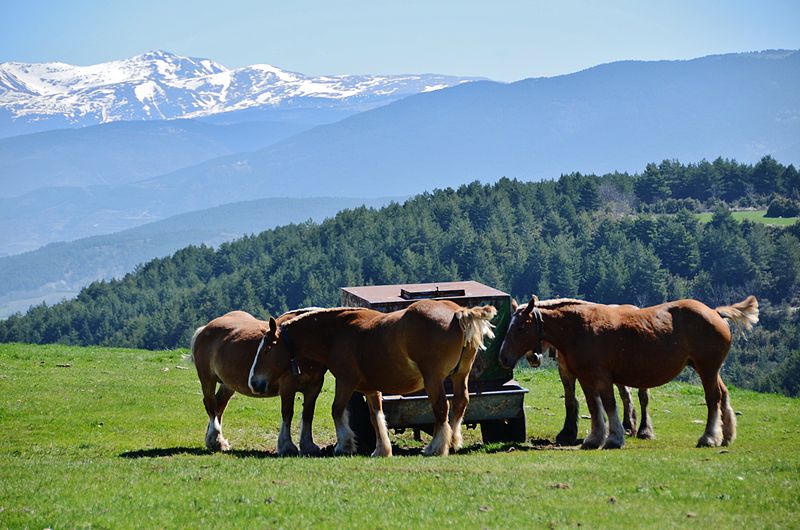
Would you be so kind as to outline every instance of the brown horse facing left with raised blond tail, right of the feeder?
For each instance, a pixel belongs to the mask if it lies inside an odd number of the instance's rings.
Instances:
[[[736,437],[736,416],[719,375],[731,345],[728,322],[751,329],[758,322],[756,298],[716,309],[696,300],[639,309],[569,299],[539,302],[534,296],[514,312],[500,362],[513,366],[523,355],[540,356],[543,345],[556,348],[586,395],[592,416],[592,429],[583,442],[587,449],[619,448],[625,442],[613,384],[653,388],[691,365],[703,383],[708,407],[697,446],[728,445]]]

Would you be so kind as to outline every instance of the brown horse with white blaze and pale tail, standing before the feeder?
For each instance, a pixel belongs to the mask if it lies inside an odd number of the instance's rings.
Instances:
[[[425,389],[435,417],[425,455],[447,455],[461,447],[468,377],[483,337],[493,337],[494,307],[464,308],[449,301],[420,300],[400,311],[334,308],[300,315],[280,326],[269,353],[256,360],[250,386],[267,388],[289,371],[292,359],[309,359],[336,378],[332,414],[336,454],[353,454],[355,435],[346,414],[354,391],[367,397],[375,429],[373,456],[391,456],[383,415],[383,392],[408,394]],[[453,410],[448,424],[444,381],[452,376]]]

